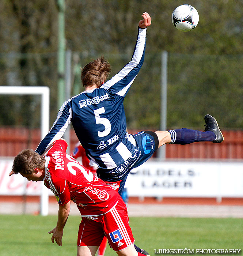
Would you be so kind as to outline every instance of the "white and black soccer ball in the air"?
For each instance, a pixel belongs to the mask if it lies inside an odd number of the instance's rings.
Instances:
[[[197,10],[189,4],[183,4],[172,12],[172,23],[180,31],[190,31],[197,26],[199,15]]]

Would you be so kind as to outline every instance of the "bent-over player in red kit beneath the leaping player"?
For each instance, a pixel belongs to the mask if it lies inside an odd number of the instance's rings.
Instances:
[[[134,248],[126,204],[109,185],[94,176],[66,153],[67,142],[53,142],[45,157],[34,150],[21,151],[14,159],[10,176],[20,173],[27,180],[44,181],[59,203],[56,227],[49,231],[52,242],[62,245],[70,201],[82,216],[77,239],[77,256],[94,256],[104,234],[119,256],[143,256]]]

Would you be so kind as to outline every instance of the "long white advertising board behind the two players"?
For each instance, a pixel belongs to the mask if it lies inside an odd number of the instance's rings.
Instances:
[[[8,176],[12,162],[0,159],[0,195],[41,195],[41,182]],[[148,161],[132,170],[126,187],[129,196],[243,197],[243,162]]]

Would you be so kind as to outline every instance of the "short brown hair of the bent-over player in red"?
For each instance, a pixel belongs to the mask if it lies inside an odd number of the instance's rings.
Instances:
[[[45,157],[41,157],[34,150],[22,150],[15,158],[12,172],[17,174],[32,174],[35,168],[45,169]]]

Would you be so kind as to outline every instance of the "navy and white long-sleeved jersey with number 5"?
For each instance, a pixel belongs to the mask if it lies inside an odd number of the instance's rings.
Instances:
[[[146,30],[138,28],[132,59],[118,74],[100,88],[84,91],[62,105],[37,153],[43,154],[50,144],[60,139],[72,122],[90,165],[113,169],[132,156],[136,142],[126,132],[123,101],[143,65]]]

